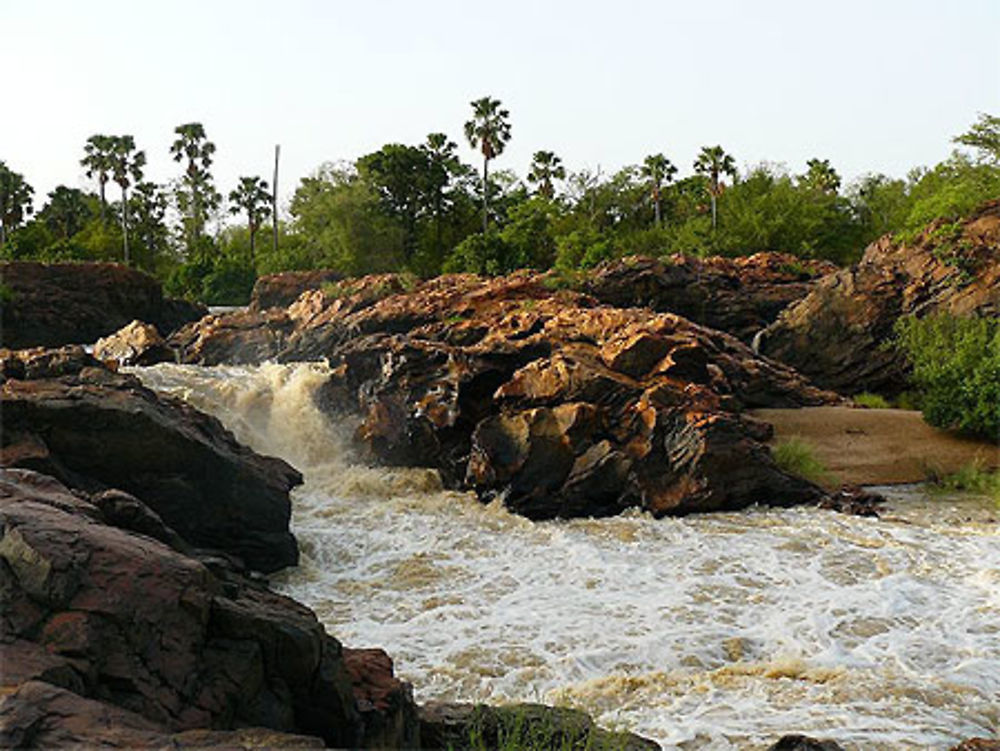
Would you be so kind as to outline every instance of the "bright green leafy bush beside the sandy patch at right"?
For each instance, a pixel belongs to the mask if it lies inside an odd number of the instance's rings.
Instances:
[[[928,423],[1000,438],[1000,321],[902,318],[896,346],[913,365],[912,381]]]

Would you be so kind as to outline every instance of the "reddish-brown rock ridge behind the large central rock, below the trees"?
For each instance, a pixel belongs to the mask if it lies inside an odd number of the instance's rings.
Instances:
[[[740,258],[676,254],[663,260],[632,256],[601,264],[580,289],[615,307],[676,313],[749,343],[785,306],[836,270],[827,261],[787,253]]]

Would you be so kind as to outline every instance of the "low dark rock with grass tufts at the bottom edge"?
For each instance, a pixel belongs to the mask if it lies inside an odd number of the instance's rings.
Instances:
[[[425,749],[538,748],[658,751],[655,741],[615,733],[577,709],[543,704],[432,702],[420,707],[420,745]]]

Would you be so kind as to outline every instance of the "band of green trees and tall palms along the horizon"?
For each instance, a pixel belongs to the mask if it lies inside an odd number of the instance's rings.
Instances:
[[[146,155],[132,136],[98,134],[80,162],[95,192],[59,186],[37,212],[26,178],[0,162],[0,256],[125,261],[172,294],[233,303],[246,299],[258,274],[285,269],[498,274],[572,271],[630,253],[762,250],[847,263],[886,232],[915,233],[1000,195],[1000,118],[989,115],[955,139],[974,155],[956,151],[905,179],[867,175],[845,187],[819,158],[801,173],[773,163],[741,172],[716,145],[686,174],[662,153],[604,174],[569,170],[556,152],[538,150],[522,181],[491,169],[512,124],[501,102],[483,97],[463,128],[481,170],[444,133],[322,165],[295,191],[275,248],[270,231],[259,241],[260,230],[273,229],[267,182],[241,177],[220,192],[216,146],[204,127],[186,123],[174,133],[179,174],[169,185],[143,179]],[[118,186],[117,200],[108,183]]]

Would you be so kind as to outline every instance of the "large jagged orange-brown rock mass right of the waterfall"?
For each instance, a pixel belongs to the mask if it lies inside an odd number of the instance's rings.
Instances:
[[[837,401],[732,336],[602,306],[546,275],[398,277],[307,292],[286,311],[188,327],[189,361],[326,357],[330,411],[360,414],[373,459],[433,466],[532,518],[816,501],[740,412]]]

